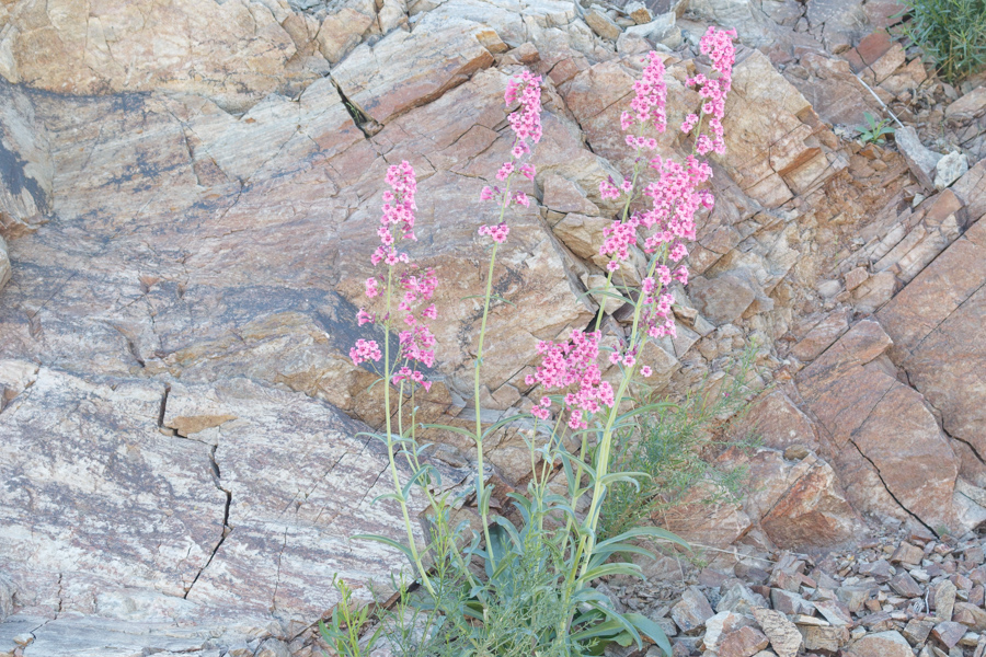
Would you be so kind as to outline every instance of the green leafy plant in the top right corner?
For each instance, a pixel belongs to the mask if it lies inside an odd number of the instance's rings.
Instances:
[[[901,34],[955,83],[986,66],[986,0],[904,0]]]

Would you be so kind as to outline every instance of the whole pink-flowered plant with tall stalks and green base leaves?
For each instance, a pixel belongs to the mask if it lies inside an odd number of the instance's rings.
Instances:
[[[526,194],[513,188],[514,182],[518,174],[534,180],[537,173],[527,160],[541,138],[541,79],[524,71],[508,82],[504,101],[508,108],[516,107],[509,114],[511,159],[496,172],[496,184],[481,193],[481,199],[496,208],[496,221],[479,229],[480,238],[491,242],[491,251],[474,361],[475,425],[471,430],[419,425],[415,419],[415,394],[431,385],[427,371],[436,359],[429,322],[437,316],[431,300],[438,279],[435,272],[422,268],[404,251],[415,240],[414,171],[408,162],[389,169],[387,182],[392,191],[383,197],[380,245],[371,257],[379,274],[366,281],[366,296],[375,308],[363,308],[357,315],[360,324],[376,324],[383,341],[380,345],[360,339],[351,356],[356,365],[375,368],[385,382],[383,433],[371,436],[387,447],[393,492],[383,497],[400,505],[408,541],[357,538],[400,550],[421,585],[415,603],[420,613],[412,615],[426,630],[415,634],[403,626],[389,632],[391,644],[401,636],[419,636],[413,646],[399,646],[399,654],[597,655],[611,642],[640,647],[644,637],[670,654],[670,645],[656,623],[640,614],[618,613],[593,584],[612,575],[640,575],[639,566],[624,558],[650,554],[631,542],[635,539],[670,541],[687,548],[679,538],[655,527],[634,526],[604,539],[600,512],[614,486],[639,486],[639,480],[647,476],[614,471],[615,441],[638,427],[641,416],[664,406],[634,405],[631,384],[651,376],[641,360],[645,343],[675,335],[669,286],[688,281],[683,263],[688,254],[686,242],[695,239],[697,215],[713,206],[712,194],[703,187],[712,171],[702,157],[725,148],[722,118],[735,56],[733,36],[734,32],[710,27],[701,39],[700,48],[712,60],[712,72],[688,80],[703,102],[700,113],[689,116],[681,126],[685,139],[690,138],[692,143],[692,152],[684,162],[654,152],[657,141],[653,132],[663,132],[667,126],[666,87],[661,57],[651,53],[645,60],[630,111],[621,118],[627,143],[635,150],[632,175],[619,184],[610,180],[600,185],[605,197],[623,201],[599,249],[609,258],[607,289],[614,273],[628,265],[632,249],[640,246],[647,254],[639,289],[617,287],[623,292],[622,302],[633,308],[629,335],[619,336],[615,346],[604,345],[600,308],[594,331],[574,330],[565,341],[541,342],[540,364],[526,378],[530,395],[537,399],[529,413],[484,426],[480,390],[496,256],[509,237],[507,212],[512,206],[530,204]],[[645,177],[651,182],[645,183]],[[631,211],[638,206],[640,209]],[[618,376],[604,378],[606,369],[612,367]],[[516,525],[491,514],[493,487],[484,474],[484,443],[507,425],[524,436],[530,451],[526,493],[508,495],[519,518]],[[449,494],[434,493],[439,489],[433,486],[438,483],[438,473],[424,457],[426,447],[419,445],[420,426],[455,431],[475,443],[477,472],[470,495],[475,496],[479,531],[469,529],[468,523],[454,526]],[[581,449],[571,452],[566,443],[581,445]],[[411,473],[403,483],[402,468]],[[410,517],[413,491],[428,507],[424,545],[415,543]],[[402,603],[410,599],[402,590]]]

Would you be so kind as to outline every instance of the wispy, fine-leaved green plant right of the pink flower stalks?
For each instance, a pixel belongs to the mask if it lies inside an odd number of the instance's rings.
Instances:
[[[736,362],[727,383],[709,394],[708,381],[678,404],[660,406],[643,417],[639,439],[621,441],[614,470],[643,472],[639,485],[616,484],[603,505],[603,534],[616,535],[646,523],[679,506],[696,484],[711,484],[702,502],[714,504],[735,497],[746,480],[744,468],[723,471],[702,459],[702,449],[719,445],[710,438],[718,418],[734,422],[748,407],[749,379],[757,350],[750,344]]]

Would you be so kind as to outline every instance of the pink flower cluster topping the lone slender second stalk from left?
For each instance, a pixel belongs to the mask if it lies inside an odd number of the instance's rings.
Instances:
[[[516,102],[520,103],[520,107],[512,112],[508,119],[511,129],[514,131],[514,146],[511,148],[511,161],[504,162],[496,172],[496,180],[506,183],[504,188],[500,185],[492,187],[483,187],[480,194],[480,200],[495,200],[501,209],[505,209],[512,203],[530,207],[530,197],[524,192],[509,193],[509,183],[515,173],[519,173],[529,181],[535,178],[537,170],[534,164],[515,165],[515,162],[530,152],[530,142],[537,143],[541,140],[541,77],[531,76],[530,71],[523,71],[516,78],[512,78],[507,82],[507,89],[504,93],[504,101],[507,107]],[[493,241],[503,243],[511,230],[503,221],[498,226],[482,226],[479,230],[481,235],[490,235]]]

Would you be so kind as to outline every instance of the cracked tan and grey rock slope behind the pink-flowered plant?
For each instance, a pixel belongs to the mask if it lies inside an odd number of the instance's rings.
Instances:
[[[582,292],[614,211],[598,183],[627,169],[618,116],[639,55],[666,53],[680,119],[710,22],[745,44],[718,204],[676,292],[679,335],[645,357],[676,394],[756,341],[757,385],[772,385],[749,417],[763,447],[714,456],[763,485],[667,523],[713,546],[791,550],[851,545],[891,519],[977,527],[986,94],[929,79],[881,32],[896,11],[4,4],[0,654],[303,655],[333,573],[386,595],[398,553],[347,541],[400,525],[369,504],[389,474],[355,436],[382,417],[346,356],[386,168],[415,166],[414,255],[443,280],[440,384],[423,413],[468,422],[479,192],[509,146],[507,77],[544,76],[536,203],[511,217],[494,284],[512,303],[494,309],[484,359],[490,417],[523,408],[537,342],[596,310]],[[884,106],[913,130],[895,146],[847,139]],[[469,447],[432,438],[450,485],[467,481]],[[490,460],[520,480],[526,446],[507,434]]]

